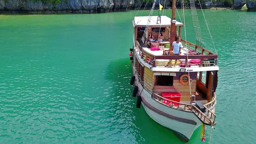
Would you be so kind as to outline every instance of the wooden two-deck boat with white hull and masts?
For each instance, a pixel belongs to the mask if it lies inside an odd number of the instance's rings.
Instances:
[[[172,6],[172,18],[153,16],[152,11],[149,16],[134,17],[130,84],[134,85],[132,96],[137,96],[136,107],[142,105],[154,121],[188,142],[202,124],[211,128],[216,124],[218,54],[204,48],[198,37],[198,44],[181,38],[181,54],[167,54],[171,53],[170,46],[181,36],[183,27],[175,19],[175,0]],[[147,48],[148,34],[157,37],[160,32],[164,41],[152,42],[160,50]],[[170,44],[169,48],[166,44]]]

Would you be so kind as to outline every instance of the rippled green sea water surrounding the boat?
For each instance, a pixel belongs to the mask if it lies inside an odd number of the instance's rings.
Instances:
[[[0,144],[183,144],[131,96],[136,13],[0,15]],[[256,13],[204,13],[220,68],[211,144],[255,144]],[[191,11],[184,14],[181,37],[194,42]],[[188,144],[205,143],[199,128]]]

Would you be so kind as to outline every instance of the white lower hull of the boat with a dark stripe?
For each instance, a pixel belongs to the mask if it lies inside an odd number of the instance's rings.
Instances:
[[[135,69],[133,68],[133,72]],[[156,102],[149,92],[143,89],[139,83],[137,74],[135,74],[135,84],[139,87],[138,95],[141,95],[142,106],[146,113],[160,125],[179,134],[185,141],[189,141],[195,129],[202,122],[192,113],[166,107]],[[142,91],[142,92],[141,92]]]

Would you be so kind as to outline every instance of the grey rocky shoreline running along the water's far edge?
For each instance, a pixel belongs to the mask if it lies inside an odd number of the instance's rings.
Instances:
[[[45,1],[45,0],[44,0]],[[145,7],[146,3],[142,0],[60,0],[53,4],[42,1],[29,0],[0,0],[0,13],[21,13],[21,14],[65,14],[65,13],[104,13],[104,12],[122,12],[128,10],[138,10],[140,6]],[[171,0],[167,1],[167,8],[171,7]],[[160,1],[164,3],[164,0]],[[159,7],[158,0],[155,7]],[[153,2],[149,2],[145,10],[151,9]],[[241,10],[245,2],[243,0],[234,0],[233,3],[222,2],[221,0],[205,0],[201,2],[203,9],[211,10]],[[184,3],[189,7],[189,0]],[[195,3],[200,8],[198,2]],[[246,1],[247,11],[256,11],[256,2]],[[180,8],[180,2],[176,7]]]

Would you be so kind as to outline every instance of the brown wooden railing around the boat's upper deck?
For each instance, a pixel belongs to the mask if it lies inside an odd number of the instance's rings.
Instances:
[[[184,42],[184,41],[183,41]],[[148,58],[147,61],[150,61],[151,63],[149,63],[150,65],[152,65],[153,67],[158,66],[156,63],[156,60],[179,60],[179,59],[184,59],[185,60],[185,67],[188,67],[188,65],[190,64],[188,62],[188,59],[200,59],[201,62],[199,64],[200,67],[203,66],[204,61],[211,61],[209,59],[214,60],[213,62],[210,62],[209,65],[217,65],[217,59],[218,59],[218,55],[205,49],[205,48],[201,48],[199,46],[196,46],[192,43],[187,42],[187,44],[189,44],[189,48],[191,48],[191,46],[194,46],[195,49],[202,49],[202,52],[208,52],[207,55],[205,54],[200,54],[200,55],[182,55],[182,56],[177,56],[177,55],[153,55],[145,50],[143,50],[143,48],[141,47],[140,43],[136,40],[135,42],[136,47],[137,47],[137,52],[139,52],[141,58]],[[148,63],[148,62],[147,62]],[[162,66],[162,65],[161,65]]]

